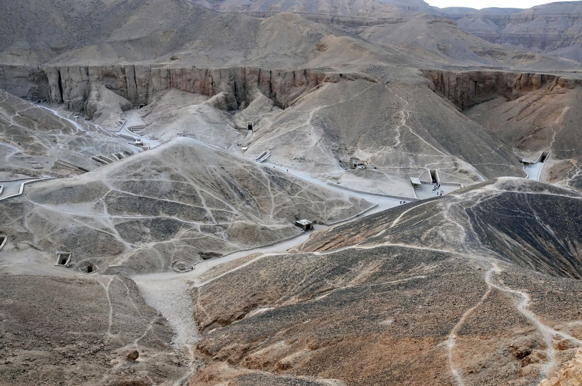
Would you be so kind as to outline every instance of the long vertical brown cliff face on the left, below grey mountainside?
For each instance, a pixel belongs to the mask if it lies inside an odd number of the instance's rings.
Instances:
[[[178,88],[208,96],[221,92],[232,94],[239,106],[250,102],[258,91],[285,108],[297,96],[321,83],[362,77],[312,69],[265,70],[256,67],[1,66],[0,88],[24,99],[64,103],[67,109],[75,111],[84,109],[92,84],[104,85],[133,105],[146,105],[157,91]]]

